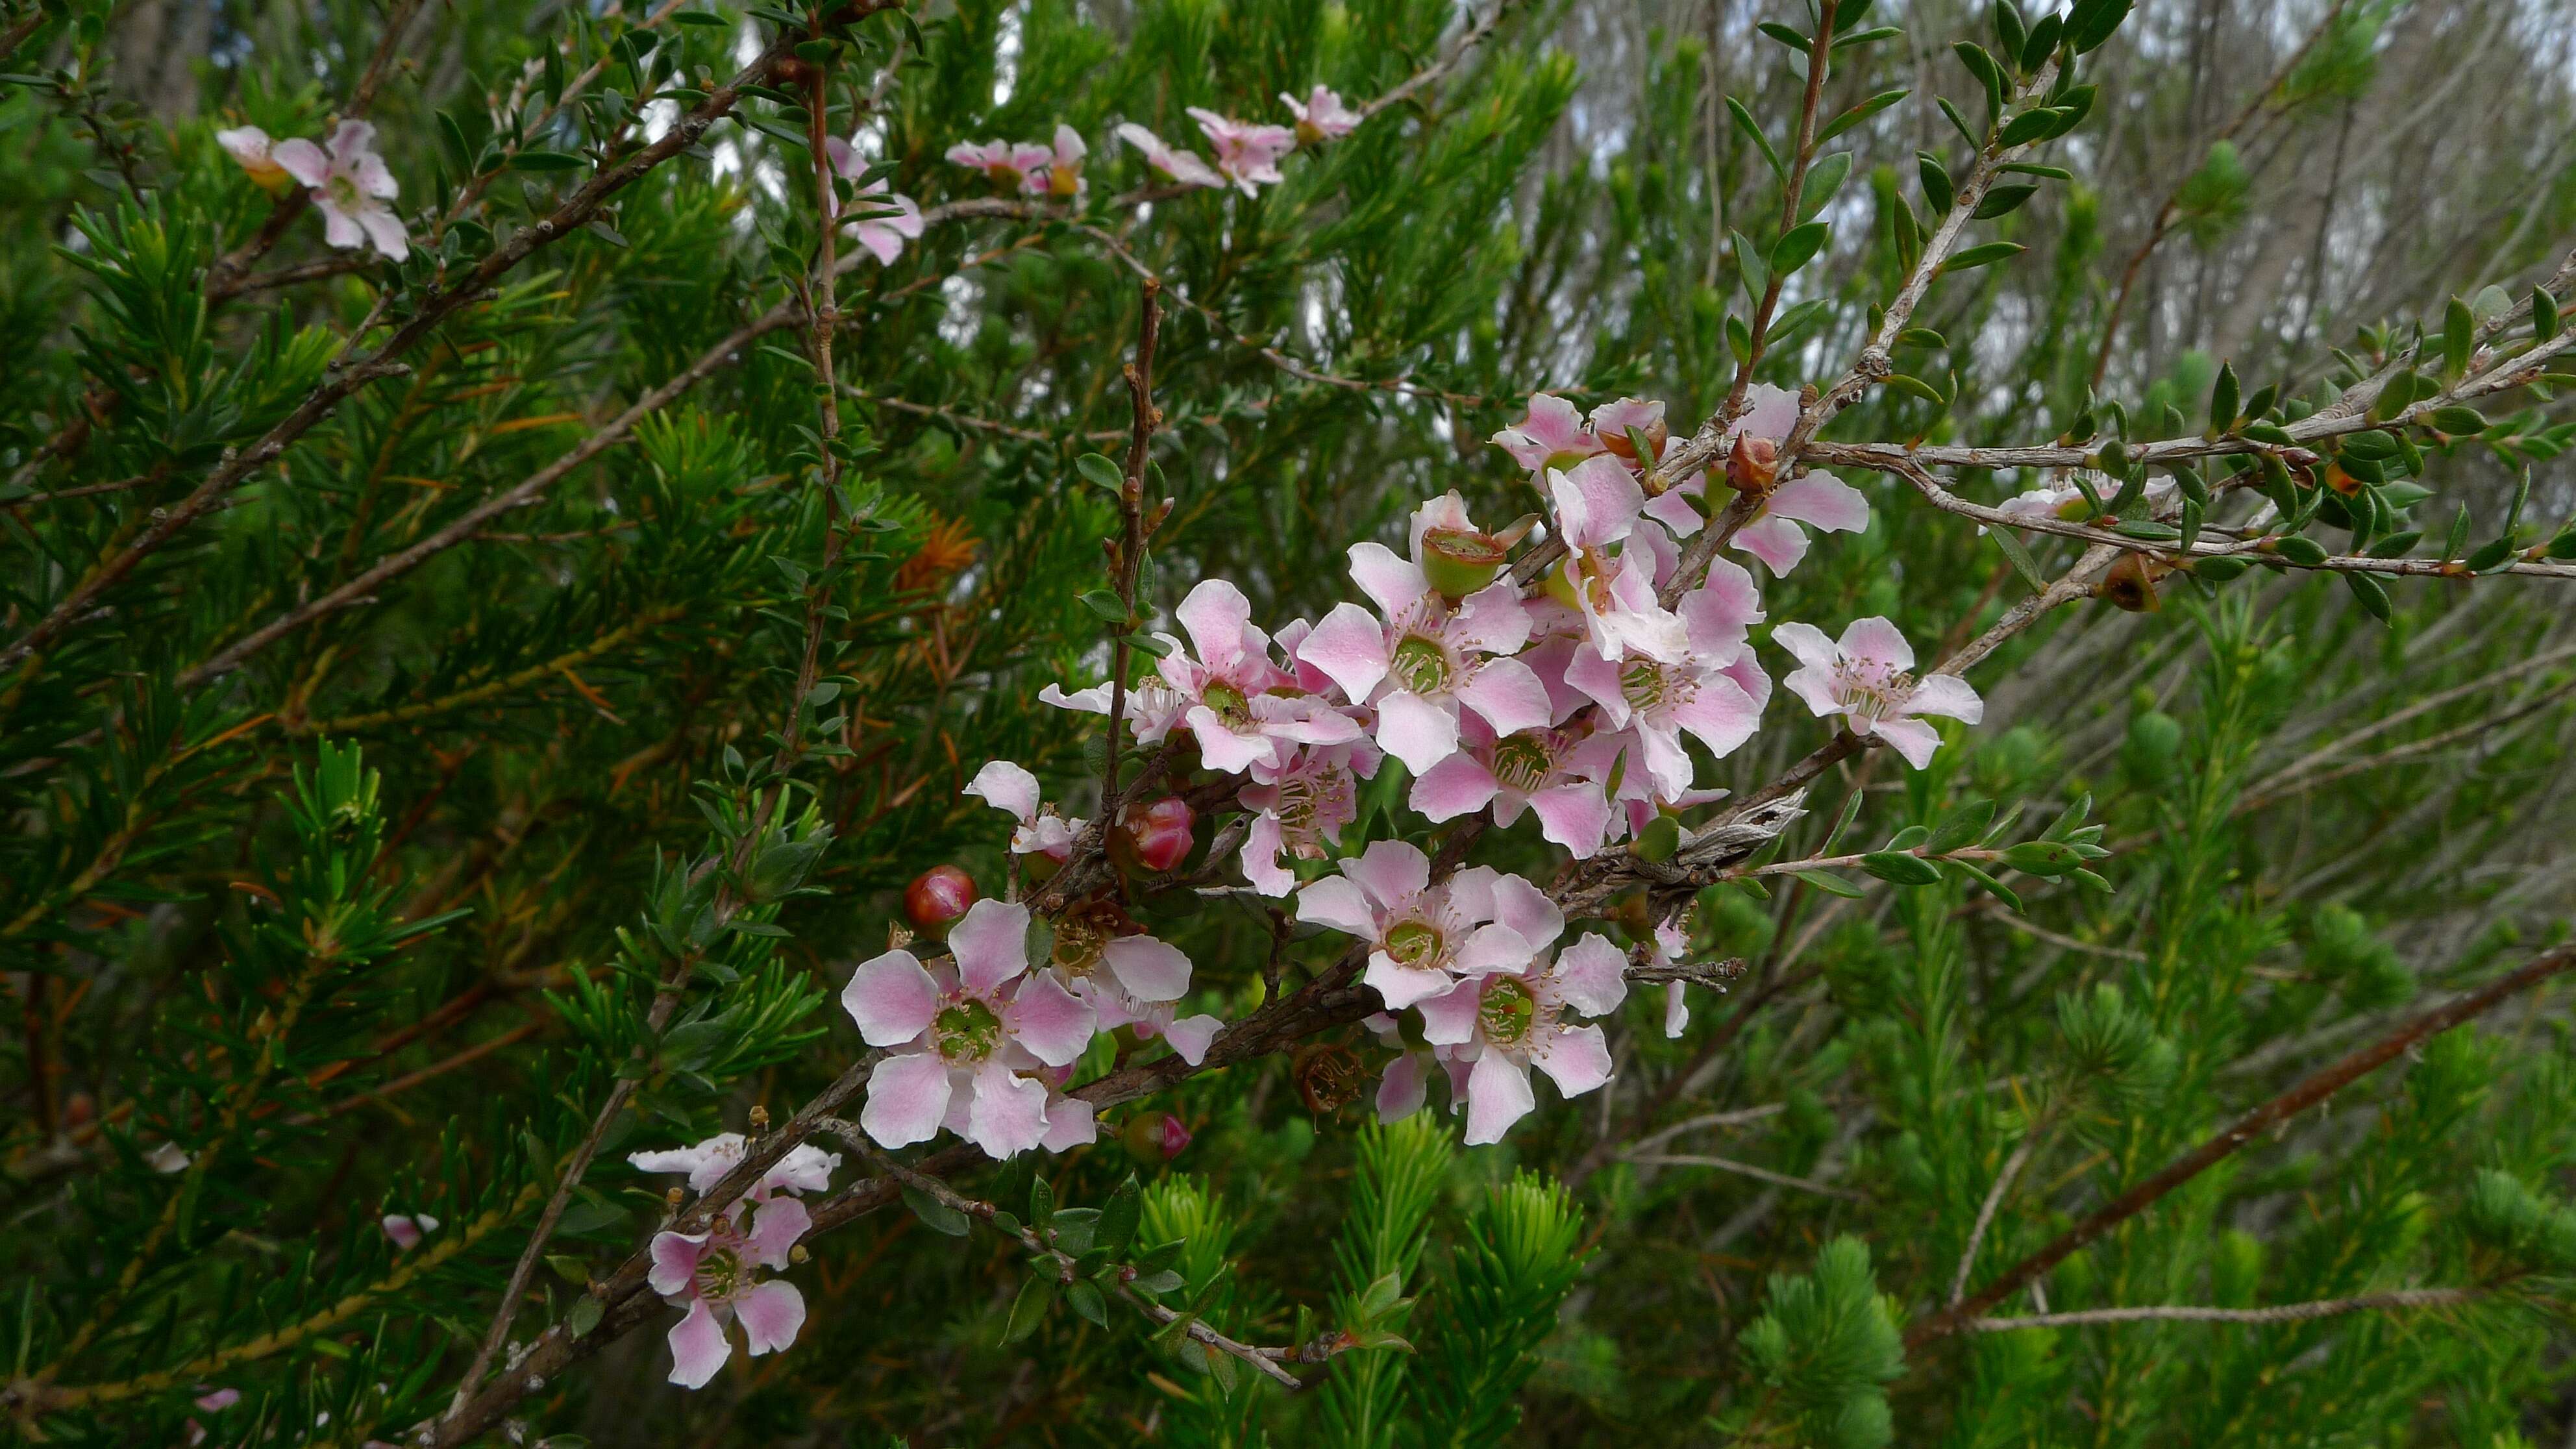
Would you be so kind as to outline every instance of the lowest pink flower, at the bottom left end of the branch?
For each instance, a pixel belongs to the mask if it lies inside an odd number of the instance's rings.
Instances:
[[[742,1227],[744,1217],[750,1230]],[[706,1232],[654,1232],[652,1292],[688,1315],[670,1328],[670,1382],[696,1390],[734,1356],[726,1323],[742,1320],[752,1359],[796,1343],[804,1328],[804,1294],[783,1279],[760,1279],[760,1269],[786,1269],[796,1240],[814,1217],[793,1196],[757,1207],[734,1204]]]

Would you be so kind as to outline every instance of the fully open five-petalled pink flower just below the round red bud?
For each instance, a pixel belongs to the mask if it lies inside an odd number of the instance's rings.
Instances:
[[[894,1049],[868,1078],[858,1124],[884,1147],[948,1127],[992,1158],[1025,1152],[1046,1137],[1046,1085],[1020,1073],[1072,1065],[1092,1039],[1092,1008],[1051,972],[1028,972],[1025,905],[974,902],[948,949],[953,962],[935,969],[886,951],[842,987],[858,1034]]]

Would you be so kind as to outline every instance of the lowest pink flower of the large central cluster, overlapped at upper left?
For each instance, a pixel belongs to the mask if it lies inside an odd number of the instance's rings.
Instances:
[[[1538,1106],[1530,1067],[1556,1091],[1582,1096],[1610,1080],[1610,1042],[1600,1026],[1574,1026],[1571,1013],[1600,1016],[1628,998],[1628,957],[1587,933],[1553,962],[1515,975],[1458,982],[1419,1003],[1422,1039],[1468,1062],[1466,1142],[1502,1142],[1504,1129]]]

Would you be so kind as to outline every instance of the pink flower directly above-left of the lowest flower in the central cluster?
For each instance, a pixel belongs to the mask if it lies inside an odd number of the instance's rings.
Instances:
[[[1432,861],[1404,841],[1376,841],[1340,877],[1306,884],[1296,918],[1370,944],[1363,977],[1388,1011],[1450,990],[1458,977],[1512,972],[1564,931],[1535,884],[1471,866],[1432,884]]]

